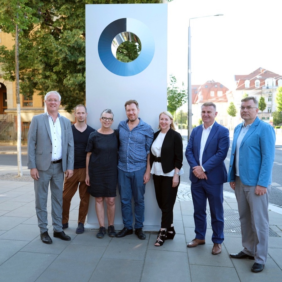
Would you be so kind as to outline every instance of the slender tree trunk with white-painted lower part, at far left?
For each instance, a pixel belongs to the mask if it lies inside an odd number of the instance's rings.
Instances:
[[[18,176],[23,176],[22,169],[22,150],[21,150],[21,103],[19,97],[19,66],[18,66],[18,24],[16,24],[15,34],[15,78],[16,78],[16,102],[17,102],[17,120],[18,120],[18,135],[17,135],[17,151],[18,151]]]

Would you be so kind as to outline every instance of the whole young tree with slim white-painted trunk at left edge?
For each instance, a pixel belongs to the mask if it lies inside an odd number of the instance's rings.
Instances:
[[[16,104],[17,104],[17,152],[18,152],[18,176],[23,175],[21,157],[21,105],[19,87],[19,39],[24,30],[37,22],[37,18],[31,14],[31,8],[26,5],[27,0],[0,1],[0,28],[6,33],[12,33],[15,38],[13,55],[14,65],[10,72],[14,75],[16,83]],[[3,48],[1,49],[3,50]]]

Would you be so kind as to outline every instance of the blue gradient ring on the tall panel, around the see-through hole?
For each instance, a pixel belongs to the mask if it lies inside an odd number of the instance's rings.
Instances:
[[[125,32],[136,34],[142,44],[140,55],[128,63],[117,60],[112,52],[114,39]],[[98,54],[102,64],[119,76],[134,76],[145,70],[154,57],[154,51],[154,38],[150,29],[134,18],[120,18],[110,23],[102,31],[98,42]]]

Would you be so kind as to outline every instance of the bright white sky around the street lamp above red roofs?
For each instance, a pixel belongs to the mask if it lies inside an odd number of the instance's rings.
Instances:
[[[282,75],[281,0],[173,0],[168,3],[168,77],[187,88],[189,18],[191,83],[234,89],[234,75],[262,67]],[[279,20],[280,19],[280,20]]]

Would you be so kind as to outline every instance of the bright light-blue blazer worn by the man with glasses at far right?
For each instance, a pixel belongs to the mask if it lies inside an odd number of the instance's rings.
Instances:
[[[240,123],[234,129],[228,182],[235,181],[235,149],[242,124]],[[271,184],[274,155],[274,128],[257,117],[239,148],[239,174],[242,183],[249,186],[268,187]]]

